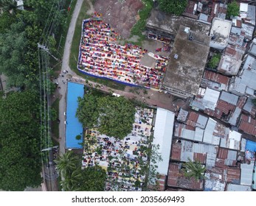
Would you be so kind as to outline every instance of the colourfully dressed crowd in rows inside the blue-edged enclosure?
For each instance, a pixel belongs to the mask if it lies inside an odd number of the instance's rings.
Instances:
[[[117,38],[110,25],[100,19],[83,21],[78,68],[96,77],[158,89],[167,66],[167,57],[156,60],[153,68],[142,65],[140,60],[148,51],[131,43],[121,46],[116,43]]]

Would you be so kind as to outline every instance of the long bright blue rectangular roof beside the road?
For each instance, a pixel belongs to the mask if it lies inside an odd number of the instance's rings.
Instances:
[[[66,100],[66,149],[82,149],[83,146],[83,125],[75,117],[77,112],[78,96],[83,97],[83,85],[68,82]],[[81,139],[77,140],[75,137],[81,135]]]

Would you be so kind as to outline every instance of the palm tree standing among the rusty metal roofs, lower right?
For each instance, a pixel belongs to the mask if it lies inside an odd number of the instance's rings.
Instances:
[[[188,158],[188,162],[184,163],[184,168],[181,170],[184,172],[185,177],[194,177],[196,180],[204,179],[205,166],[202,166],[199,161],[193,162]]]

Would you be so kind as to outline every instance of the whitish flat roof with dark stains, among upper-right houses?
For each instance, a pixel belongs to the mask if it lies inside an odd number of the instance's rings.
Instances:
[[[225,49],[229,33],[232,26],[232,21],[227,21],[221,18],[212,19],[212,28],[210,30],[210,46],[215,49]]]

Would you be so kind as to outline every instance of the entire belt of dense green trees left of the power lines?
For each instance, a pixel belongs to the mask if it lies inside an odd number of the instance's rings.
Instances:
[[[38,43],[49,37],[47,46],[50,51],[56,50],[55,38],[66,15],[56,5],[63,2],[27,0],[25,10],[18,10],[16,1],[0,0],[0,74],[7,77],[8,87],[19,88],[17,93],[7,93],[0,99],[0,189],[6,191],[23,191],[41,184],[41,157],[46,157],[45,153],[41,156],[41,147],[51,143],[41,139],[41,131],[47,126],[41,125],[40,118],[49,117],[44,112],[40,116],[44,94],[40,88],[45,85],[40,86]],[[49,92],[55,89],[49,86]],[[54,110],[51,114],[56,118]]]

